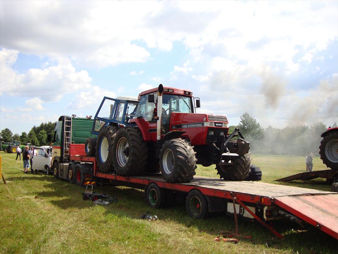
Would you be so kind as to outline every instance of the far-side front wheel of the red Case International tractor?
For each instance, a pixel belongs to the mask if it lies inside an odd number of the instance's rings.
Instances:
[[[217,165],[216,169],[219,178],[224,178],[224,180],[228,181],[243,181],[248,177],[251,165],[251,157],[247,153],[239,157],[234,165]]]

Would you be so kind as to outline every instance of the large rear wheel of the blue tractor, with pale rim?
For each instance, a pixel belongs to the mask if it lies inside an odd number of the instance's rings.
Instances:
[[[96,161],[101,172],[114,172],[112,145],[117,131],[116,126],[106,126],[97,136]]]

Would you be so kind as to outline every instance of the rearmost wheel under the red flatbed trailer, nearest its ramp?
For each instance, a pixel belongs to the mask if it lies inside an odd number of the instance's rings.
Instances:
[[[206,217],[209,214],[207,198],[199,190],[191,190],[187,196],[186,209],[194,219]]]

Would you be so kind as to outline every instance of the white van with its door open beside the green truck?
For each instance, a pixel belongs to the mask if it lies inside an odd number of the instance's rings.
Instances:
[[[46,174],[50,174],[52,168],[52,147],[51,146],[41,146],[34,147],[33,150],[33,169],[35,172],[38,170],[46,172]]]

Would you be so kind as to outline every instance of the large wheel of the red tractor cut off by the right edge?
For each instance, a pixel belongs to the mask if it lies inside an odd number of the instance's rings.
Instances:
[[[319,146],[320,158],[328,168],[338,170],[338,131],[328,133]]]

